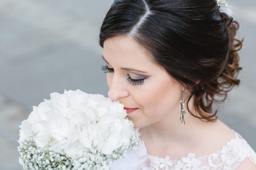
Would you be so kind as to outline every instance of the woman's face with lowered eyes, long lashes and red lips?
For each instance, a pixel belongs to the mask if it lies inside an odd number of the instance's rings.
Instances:
[[[151,58],[130,37],[115,36],[104,41],[108,97],[124,105],[134,128],[161,122],[172,112],[180,117],[184,89]]]

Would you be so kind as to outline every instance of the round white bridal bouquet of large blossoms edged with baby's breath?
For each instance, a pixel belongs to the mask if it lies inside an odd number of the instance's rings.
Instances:
[[[80,90],[50,96],[21,123],[18,151],[24,169],[141,167],[147,151],[135,136],[132,121],[125,119],[124,105]]]

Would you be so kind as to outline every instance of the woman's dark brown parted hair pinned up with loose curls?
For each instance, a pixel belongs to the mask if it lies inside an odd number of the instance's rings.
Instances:
[[[216,0],[115,0],[99,42],[103,48],[107,38],[132,36],[156,64],[189,89],[188,101],[194,96],[197,112],[188,108],[189,113],[210,122],[217,119],[212,104],[224,101],[240,83],[238,28],[232,17],[220,13]]]

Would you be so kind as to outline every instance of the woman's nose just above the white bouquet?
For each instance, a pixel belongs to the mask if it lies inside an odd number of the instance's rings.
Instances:
[[[112,100],[117,100],[120,97],[127,97],[129,96],[129,91],[127,90],[127,83],[125,81],[126,79],[122,76],[114,74],[109,91],[108,91],[108,97]]]

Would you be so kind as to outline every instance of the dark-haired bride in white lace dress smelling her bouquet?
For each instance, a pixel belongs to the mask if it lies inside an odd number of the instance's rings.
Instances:
[[[148,169],[256,169],[212,104],[239,84],[242,41],[221,0],[115,0],[100,29],[108,96],[124,104]]]

